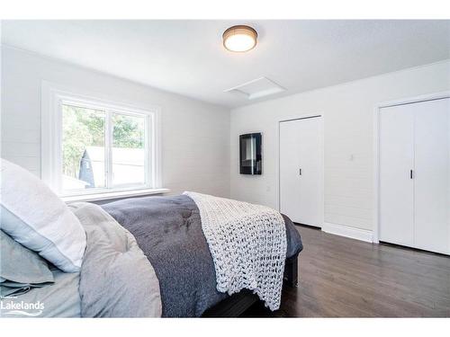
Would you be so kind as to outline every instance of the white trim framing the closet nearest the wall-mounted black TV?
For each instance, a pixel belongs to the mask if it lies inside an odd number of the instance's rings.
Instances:
[[[320,174],[320,226],[319,228],[322,228],[323,224],[325,223],[325,188],[324,188],[324,175],[325,175],[325,151],[324,151],[324,117],[322,113],[311,113],[311,114],[304,114],[299,117],[293,117],[290,119],[284,119],[284,120],[278,120],[277,122],[277,128],[276,128],[276,139],[278,142],[278,145],[276,146],[276,150],[278,152],[278,155],[276,156],[276,170],[278,171],[276,173],[277,180],[276,180],[276,193],[277,193],[277,203],[278,203],[278,211],[281,211],[281,191],[280,191],[280,125],[284,122],[294,121],[294,120],[308,120],[317,118],[320,120],[320,167],[321,167],[321,174]]]

